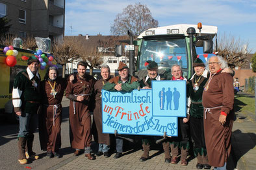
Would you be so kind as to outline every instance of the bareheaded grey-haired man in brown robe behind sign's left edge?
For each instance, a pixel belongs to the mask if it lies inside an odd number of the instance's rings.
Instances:
[[[102,109],[101,109],[101,89],[107,81],[110,79],[110,68],[108,65],[101,66],[101,79],[97,80],[94,85],[94,94],[96,100],[96,107],[94,109],[94,125],[96,125],[97,131],[97,143],[99,143],[99,149],[96,156],[102,154],[108,158],[110,156],[110,135],[102,133]],[[93,126],[94,127],[94,126]]]

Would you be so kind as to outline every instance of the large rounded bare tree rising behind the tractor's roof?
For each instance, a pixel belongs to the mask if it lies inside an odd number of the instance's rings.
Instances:
[[[113,35],[127,35],[127,30],[130,30],[133,36],[138,36],[148,28],[158,27],[159,22],[151,16],[151,12],[146,5],[136,3],[128,5],[123,9],[121,14],[116,16],[113,25],[110,27],[110,32]]]

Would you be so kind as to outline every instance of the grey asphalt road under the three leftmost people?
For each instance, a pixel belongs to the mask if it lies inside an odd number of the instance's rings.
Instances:
[[[18,145],[17,145],[17,135],[18,135],[18,125],[10,124],[6,122],[5,116],[0,117],[0,169],[27,169],[31,167],[32,169],[47,169],[60,162],[73,156],[73,150],[70,148],[69,140],[69,125],[68,125],[68,105],[69,101],[62,101],[63,118],[61,126],[61,136],[62,136],[62,149],[61,153],[64,153],[62,158],[45,158],[45,151],[41,151],[39,144],[38,133],[34,135],[34,146],[33,150],[36,154],[40,155],[39,160],[29,160],[29,164],[19,165],[18,163]],[[27,168],[26,168],[27,167]]]

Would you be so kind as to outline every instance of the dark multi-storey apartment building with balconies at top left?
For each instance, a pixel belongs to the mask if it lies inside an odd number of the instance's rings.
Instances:
[[[10,19],[9,32],[19,37],[62,39],[64,36],[65,0],[0,0],[0,17]]]

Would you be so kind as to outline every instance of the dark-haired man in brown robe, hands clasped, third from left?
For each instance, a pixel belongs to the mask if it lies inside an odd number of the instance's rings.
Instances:
[[[91,117],[89,104],[94,90],[95,79],[85,74],[87,64],[84,61],[77,63],[77,76],[73,82],[68,82],[66,97],[70,99],[70,127],[71,147],[75,149],[75,156],[84,149],[85,156],[94,160],[90,147],[92,143]]]

